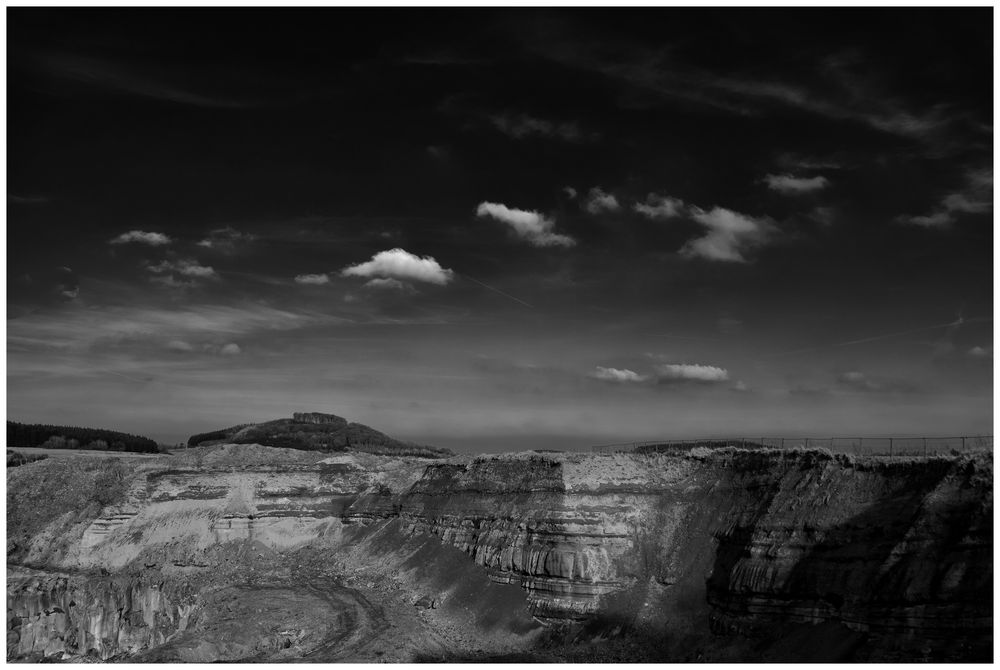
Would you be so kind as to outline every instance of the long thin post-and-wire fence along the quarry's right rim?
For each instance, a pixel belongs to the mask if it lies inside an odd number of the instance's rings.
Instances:
[[[735,437],[694,440],[653,440],[602,444],[595,453],[686,452],[694,447],[742,449],[828,449],[833,453],[869,456],[938,456],[992,451],[992,435],[959,437]]]

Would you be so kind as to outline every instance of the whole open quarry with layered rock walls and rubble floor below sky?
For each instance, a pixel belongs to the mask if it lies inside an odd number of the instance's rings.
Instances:
[[[993,459],[212,444],[7,472],[9,661],[989,661]]]

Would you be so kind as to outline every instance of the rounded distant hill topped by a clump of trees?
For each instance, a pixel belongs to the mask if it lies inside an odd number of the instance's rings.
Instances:
[[[363,451],[393,456],[444,458],[447,449],[402,442],[335,414],[296,412],[291,419],[244,424],[192,435],[189,447],[212,444],[261,444],[305,451]]]

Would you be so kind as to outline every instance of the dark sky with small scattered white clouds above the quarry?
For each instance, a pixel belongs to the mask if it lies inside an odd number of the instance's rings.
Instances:
[[[992,433],[992,25],[8,8],[8,419]]]

